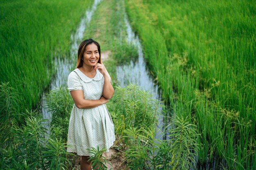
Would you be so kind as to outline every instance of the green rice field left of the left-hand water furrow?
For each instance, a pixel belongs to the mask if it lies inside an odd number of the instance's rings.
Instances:
[[[70,35],[91,0],[0,4],[0,81],[18,90],[20,111],[38,103],[54,74],[54,52],[69,55]]]

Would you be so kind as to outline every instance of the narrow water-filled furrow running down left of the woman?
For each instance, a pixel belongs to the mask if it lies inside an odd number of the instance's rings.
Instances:
[[[81,43],[85,29],[90,23],[92,15],[94,14],[94,11],[97,9],[97,5],[99,4],[99,2],[101,2],[101,0],[94,0],[92,7],[85,11],[85,16],[81,18],[79,26],[76,29],[76,32],[71,35],[72,45],[70,49],[70,57],[61,57],[58,56],[58,54],[53,54],[54,56],[56,56],[56,75],[54,76],[54,78],[52,78],[52,82],[49,85],[49,89],[43,93],[43,96],[41,97],[42,100],[40,103],[41,111],[43,113],[43,119],[47,120],[46,128],[48,132],[52,120],[52,113],[47,110],[45,94],[49,93],[50,90],[55,89],[56,87],[59,87],[61,85],[67,86],[67,77],[70,74],[70,72],[75,69],[74,66],[76,65],[77,49],[79,47],[79,44]]]

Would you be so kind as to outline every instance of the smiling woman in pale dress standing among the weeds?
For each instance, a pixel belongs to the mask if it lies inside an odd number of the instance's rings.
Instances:
[[[92,147],[108,149],[115,141],[112,119],[105,103],[112,98],[114,89],[110,76],[101,62],[98,42],[84,40],[78,49],[76,69],[67,80],[74,100],[67,135],[67,152],[81,156],[81,170],[90,170],[88,151]]]

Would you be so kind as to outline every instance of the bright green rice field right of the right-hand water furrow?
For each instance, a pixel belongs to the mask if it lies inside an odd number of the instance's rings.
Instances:
[[[162,97],[202,133],[199,162],[218,158],[227,168],[254,169],[254,1],[125,2]]]

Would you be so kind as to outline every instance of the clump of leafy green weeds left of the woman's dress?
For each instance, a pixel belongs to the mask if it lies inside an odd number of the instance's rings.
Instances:
[[[1,98],[0,101],[1,109],[5,110],[2,112],[2,116],[7,117],[6,123],[1,123],[0,132],[3,135],[8,134],[7,136],[1,136],[0,169],[62,170],[63,168],[71,168],[72,165],[68,157],[74,155],[66,152],[65,143],[68,128],[68,109],[71,108],[69,107],[71,104],[69,103],[70,96],[67,96],[67,89],[60,88],[61,90],[55,90],[53,94],[49,94],[49,96],[52,95],[55,98],[49,97],[48,102],[55,103],[57,109],[55,110],[55,120],[52,121],[52,134],[47,134],[45,129],[46,120],[42,119],[42,114],[36,111],[26,111],[19,114],[24,119],[24,124],[19,125],[14,119],[15,115],[18,114],[12,104],[12,100],[15,100],[15,98],[11,98],[12,93],[7,93],[8,90],[14,89],[9,88],[8,84],[0,87],[0,95],[4,96],[3,94],[6,94],[6,97]],[[59,97],[59,100],[57,100],[57,97]],[[54,107],[54,104],[51,106]],[[9,116],[6,116],[6,114],[9,114]],[[65,114],[65,117],[59,117],[60,114]]]

